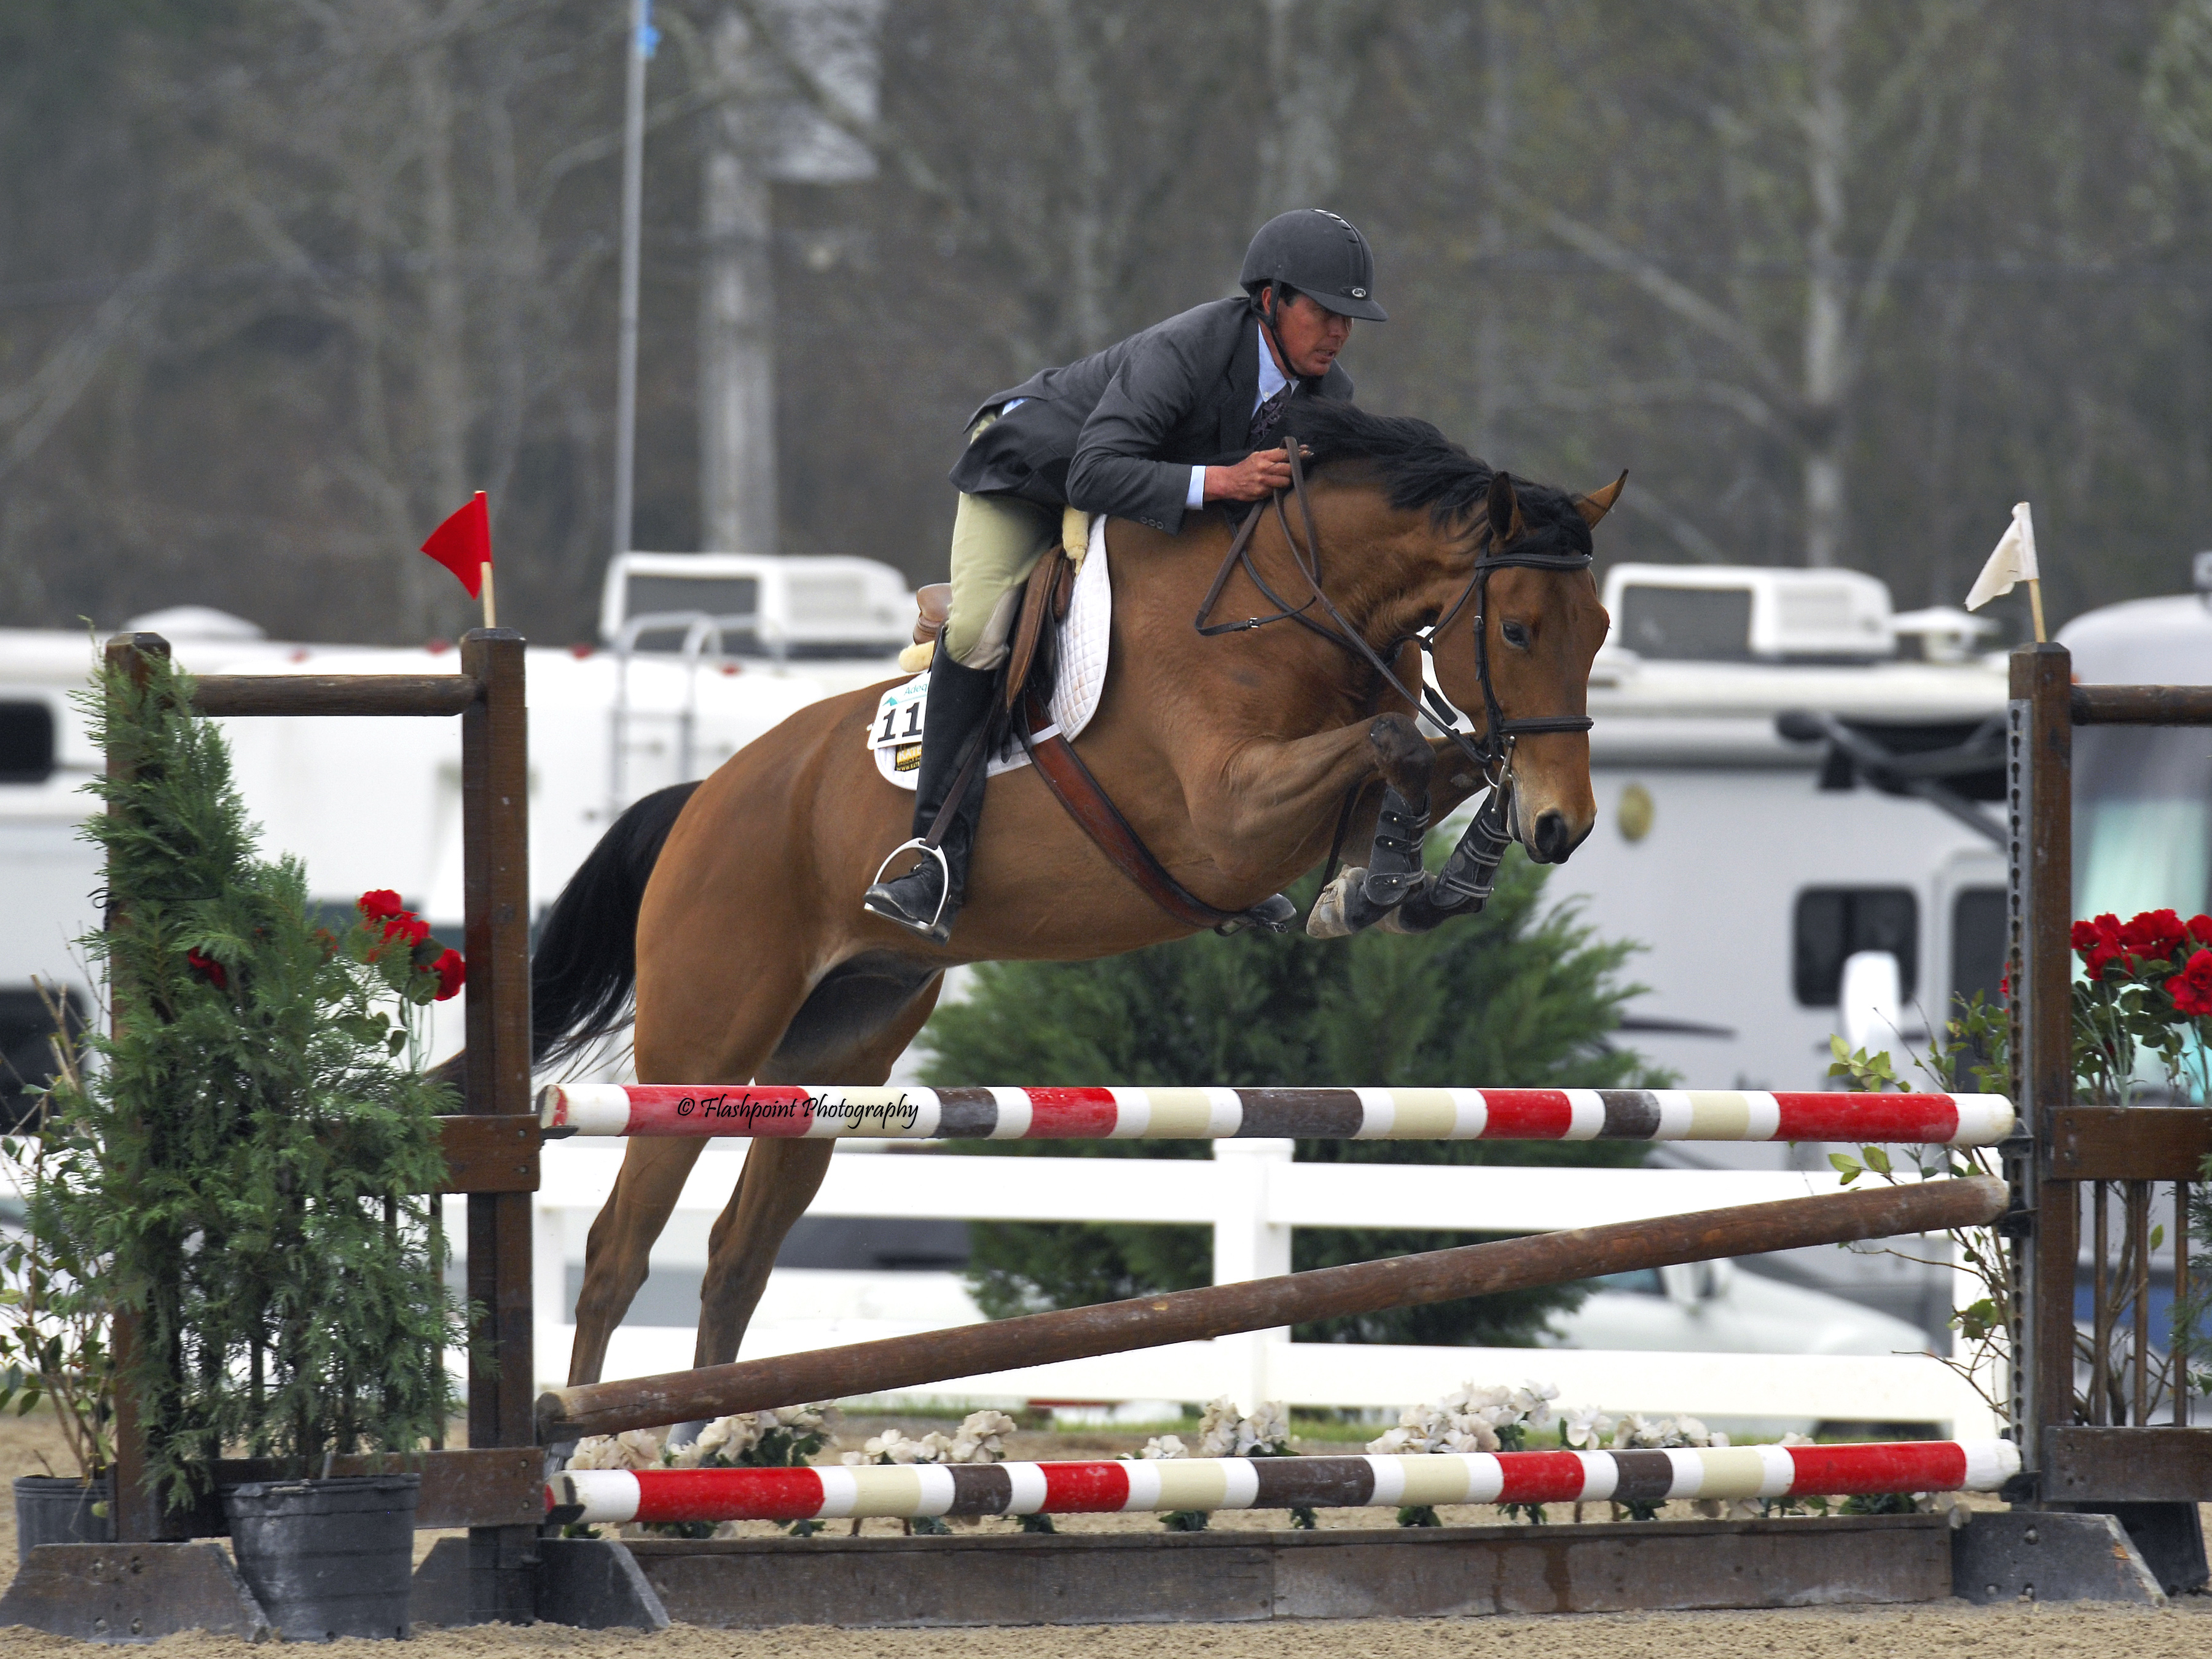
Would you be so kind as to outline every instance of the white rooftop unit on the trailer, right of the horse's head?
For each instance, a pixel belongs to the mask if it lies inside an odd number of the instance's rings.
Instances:
[[[1663,661],[1878,661],[1898,648],[1889,588],[1858,571],[1615,564],[1613,641]]]

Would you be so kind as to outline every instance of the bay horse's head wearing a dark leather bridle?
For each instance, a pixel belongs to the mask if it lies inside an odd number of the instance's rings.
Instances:
[[[1504,748],[1513,838],[1564,863],[1597,821],[1590,792],[1590,661],[1606,608],[1590,575],[1590,529],[1628,473],[1588,495],[1491,473],[1462,599],[1440,615],[1436,684]]]

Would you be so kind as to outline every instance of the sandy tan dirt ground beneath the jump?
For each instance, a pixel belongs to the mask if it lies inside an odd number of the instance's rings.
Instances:
[[[856,1422],[845,1440],[874,1433]],[[909,1427],[900,1420],[900,1427]],[[916,1425],[936,1427],[936,1425]],[[1015,1458],[1084,1458],[1133,1451],[1144,1436],[1035,1433],[1009,1447]],[[1305,1451],[1349,1451],[1312,1444]],[[44,1458],[44,1462],[42,1462]],[[51,1416],[0,1418],[0,1473],[66,1473],[69,1462]],[[1595,1506],[1593,1506],[1595,1509]],[[1444,1511],[1447,1522],[1495,1524],[1491,1509]],[[1559,1513],[1559,1520],[1566,1520]],[[1604,1515],[1588,1515],[1604,1520]],[[1338,1526],[1374,1524],[1371,1511],[1321,1511]],[[1217,1528],[1274,1528],[1276,1513],[1221,1513]],[[984,1522],[1011,1531],[1004,1522]],[[1148,1531],[1152,1515],[1064,1515],[1064,1531]],[[765,1524],[748,1531],[770,1531]],[[841,1528],[843,1531],[843,1528]],[[896,1533],[898,1522],[869,1522],[869,1535]],[[0,1564],[15,1557],[15,1513],[0,1504]],[[418,1533],[418,1553],[434,1533]],[[2166,1610],[2112,1606],[1971,1608],[1940,1601],[1916,1608],[1796,1608],[1787,1613],[1637,1613],[1548,1619],[1356,1619],[1312,1624],[1177,1624],[1177,1626],[1029,1626],[993,1630],[701,1630],[664,1635],[568,1630],[564,1626],[478,1626],[420,1630],[416,1659],[1763,1659],[1776,1650],[1798,1659],[2203,1659],[2212,1648],[2212,1597],[2185,1597]],[[352,1648],[354,1644],[338,1644]],[[365,1652],[372,1644],[361,1644]],[[248,1644],[186,1635],[150,1646],[166,1659],[246,1659]],[[58,1659],[113,1652],[38,1630],[0,1628],[0,1659]]]

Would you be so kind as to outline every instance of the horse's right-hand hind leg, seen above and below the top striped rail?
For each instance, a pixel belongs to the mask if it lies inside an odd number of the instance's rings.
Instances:
[[[896,980],[880,1002],[898,995]],[[827,987],[825,987],[827,989]],[[761,1082],[825,1082],[854,1088],[885,1082],[914,1033],[922,1029],[938,1004],[942,980],[931,971],[925,982],[909,984],[889,1006],[856,1009],[858,1018],[843,1024],[843,1042],[810,1040],[807,1018],[792,1022],[783,1048],[761,1071]],[[869,1018],[874,1015],[874,1018]],[[854,1029],[858,1026],[858,1029]],[[810,1073],[810,1075],[799,1075]],[[745,1170],[730,1194],[730,1206],[714,1219],[708,1234],[708,1270],[699,1285],[699,1347],[692,1365],[728,1365],[745,1340],[752,1310],[768,1290],[776,1250],[792,1223],[814,1201],[830,1170],[832,1139],[754,1139],[745,1150]]]

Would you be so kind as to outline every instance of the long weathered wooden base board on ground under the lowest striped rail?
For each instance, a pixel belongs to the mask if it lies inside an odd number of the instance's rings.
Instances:
[[[1940,1601],[1942,1515],[1318,1533],[628,1540],[677,1624],[1427,1619]]]

